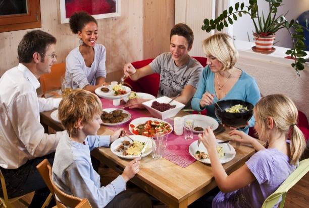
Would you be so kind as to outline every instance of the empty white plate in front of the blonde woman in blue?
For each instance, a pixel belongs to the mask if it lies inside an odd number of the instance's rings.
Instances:
[[[206,116],[206,115],[200,115],[200,114],[190,114],[190,115],[185,115],[182,117],[183,119],[185,118],[191,118],[194,120],[194,127],[199,126],[202,127],[203,129],[207,128],[208,126],[213,125],[213,130],[217,129],[219,126],[218,121],[216,119]],[[196,131],[193,130],[194,133],[202,133],[203,131]]]

